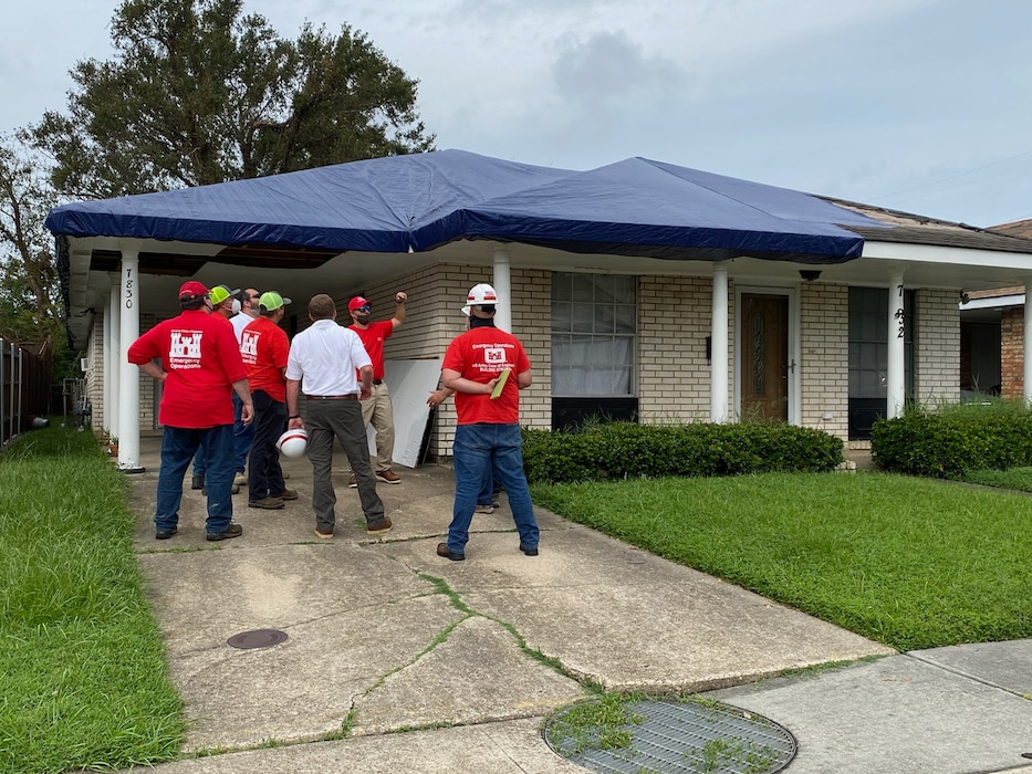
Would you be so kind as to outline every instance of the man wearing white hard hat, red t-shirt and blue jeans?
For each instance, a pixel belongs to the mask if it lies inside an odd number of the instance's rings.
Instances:
[[[520,437],[520,390],[532,383],[530,360],[520,339],[494,326],[497,302],[491,285],[470,290],[462,310],[469,313],[469,331],[448,345],[441,365],[441,381],[455,390],[458,423],[451,448],[455,506],[448,542],[437,544],[437,555],[452,562],[466,558],[469,524],[488,469],[505,488],[520,551],[538,555],[538,521],[523,474]]]

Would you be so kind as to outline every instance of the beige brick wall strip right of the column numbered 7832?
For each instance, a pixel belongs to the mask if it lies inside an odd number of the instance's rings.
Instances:
[[[957,291],[918,290],[914,394],[922,405],[960,399],[960,305]]]

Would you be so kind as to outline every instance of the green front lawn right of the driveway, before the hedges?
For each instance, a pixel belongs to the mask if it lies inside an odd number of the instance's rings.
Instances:
[[[1032,499],[880,473],[535,485],[534,502],[899,650],[1032,637]]]

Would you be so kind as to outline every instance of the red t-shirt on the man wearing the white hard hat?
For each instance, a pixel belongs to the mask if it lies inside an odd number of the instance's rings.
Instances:
[[[520,339],[511,333],[490,326],[467,331],[448,345],[441,368],[457,370],[463,378],[480,384],[487,384],[504,369],[510,369],[509,380],[494,400],[490,395],[457,391],[455,412],[459,425],[515,425],[520,421],[517,375],[530,370],[530,360]]]

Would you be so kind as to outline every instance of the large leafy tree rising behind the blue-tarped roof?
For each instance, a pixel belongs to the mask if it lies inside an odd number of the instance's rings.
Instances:
[[[417,82],[362,32],[280,38],[242,0],[126,0],[35,143],[55,188],[108,198],[432,149]]]

